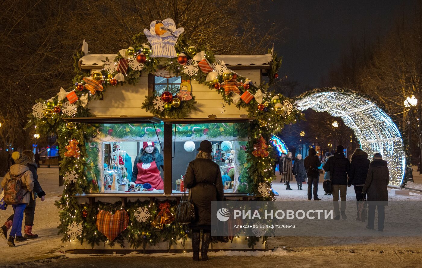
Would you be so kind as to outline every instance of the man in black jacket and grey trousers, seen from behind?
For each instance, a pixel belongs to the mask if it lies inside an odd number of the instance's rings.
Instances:
[[[333,203],[335,220],[347,219],[346,216],[346,191],[347,191],[347,175],[350,171],[350,162],[344,156],[343,145],[338,145],[335,149],[333,157],[330,157],[324,165],[324,170],[330,172],[330,181],[333,185]],[[340,191],[341,207],[338,209],[338,191]]]

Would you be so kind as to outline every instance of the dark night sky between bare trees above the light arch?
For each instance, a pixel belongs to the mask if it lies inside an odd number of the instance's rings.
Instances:
[[[321,87],[330,67],[341,52],[347,52],[353,37],[376,40],[392,26],[400,10],[412,0],[275,0],[268,13],[270,21],[286,27],[284,40],[275,50],[283,57],[280,75],[300,86]],[[331,85],[330,85],[331,86]]]

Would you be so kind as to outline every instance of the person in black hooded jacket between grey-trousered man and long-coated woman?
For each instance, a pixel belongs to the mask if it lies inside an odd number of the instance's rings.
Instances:
[[[350,162],[350,172],[347,186],[351,186],[352,184],[354,186],[357,210],[359,210],[359,201],[365,197],[362,195],[362,189],[365,185],[366,176],[368,175],[369,162],[368,153],[364,152],[360,148],[354,150],[354,153],[352,154],[352,161]],[[359,213],[359,211],[357,213]],[[357,216],[356,220],[360,220],[359,216]]]

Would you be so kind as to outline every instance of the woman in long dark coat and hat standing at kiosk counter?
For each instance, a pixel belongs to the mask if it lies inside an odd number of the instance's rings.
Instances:
[[[223,182],[220,167],[212,161],[212,145],[208,140],[200,143],[196,159],[190,161],[184,178],[195,205],[196,219],[189,224],[192,228],[193,260],[199,260],[199,236],[203,230],[201,259],[208,260],[208,246],[211,241],[211,201],[223,201]]]

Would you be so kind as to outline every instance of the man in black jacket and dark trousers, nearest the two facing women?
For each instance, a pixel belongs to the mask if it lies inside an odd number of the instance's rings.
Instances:
[[[308,200],[312,199],[312,184],[314,184],[314,200],[321,200],[318,198],[318,167],[321,165],[321,161],[319,161],[314,148],[309,148],[308,153],[309,155],[304,160],[306,175],[308,175]]]

